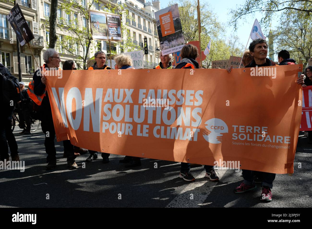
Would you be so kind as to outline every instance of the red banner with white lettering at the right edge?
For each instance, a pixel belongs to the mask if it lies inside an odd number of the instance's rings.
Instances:
[[[302,112],[300,131],[312,131],[312,86],[302,88]],[[301,101],[298,101],[300,103]]]

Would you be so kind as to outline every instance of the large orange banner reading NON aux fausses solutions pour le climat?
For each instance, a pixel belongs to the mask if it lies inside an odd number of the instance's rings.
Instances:
[[[57,141],[204,165],[238,161],[240,169],[284,174],[294,171],[301,70],[66,70],[47,77],[47,91]]]

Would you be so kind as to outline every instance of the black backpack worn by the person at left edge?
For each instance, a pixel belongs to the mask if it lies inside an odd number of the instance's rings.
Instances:
[[[21,91],[18,79],[10,74],[7,68],[0,72],[2,78],[2,96],[4,114],[10,116],[14,111],[14,107],[18,101],[21,101]]]

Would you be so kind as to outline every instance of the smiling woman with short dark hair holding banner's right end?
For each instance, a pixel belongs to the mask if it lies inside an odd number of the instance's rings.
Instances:
[[[263,39],[253,40],[249,45],[249,51],[254,60],[251,61],[250,64],[246,65],[246,68],[251,67],[266,67],[272,66],[273,63],[271,60],[266,58],[268,53],[268,45]],[[275,64],[274,64],[275,65]],[[227,71],[230,73],[231,68],[228,68]],[[301,74],[300,78],[297,79],[298,84],[304,83],[304,75]],[[240,186],[234,189],[235,193],[245,193],[247,191],[251,191],[257,188],[254,180],[255,172],[252,170],[242,169],[244,181],[240,184]],[[262,193],[260,200],[261,201],[271,201],[272,200],[272,192],[271,188],[273,187],[273,181],[275,179],[275,173],[266,173],[266,172],[258,172],[257,173],[262,178]]]

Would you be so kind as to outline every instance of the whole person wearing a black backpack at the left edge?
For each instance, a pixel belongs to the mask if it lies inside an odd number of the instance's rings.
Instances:
[[[0,63],[0,161],[9,160],[9,149],[12,161],[19,161],[18,146],[12,133],[12,113],[20,98],[18,79],[10,74],[8,69]]]

